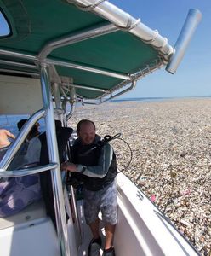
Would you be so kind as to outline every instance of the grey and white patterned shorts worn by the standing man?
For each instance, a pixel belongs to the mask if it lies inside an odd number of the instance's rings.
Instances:
[[[87,224],[92,224],[101,211],[107,224],[117,224],[117,184],[113,181],[98,191],[84,189],[83,207]]]

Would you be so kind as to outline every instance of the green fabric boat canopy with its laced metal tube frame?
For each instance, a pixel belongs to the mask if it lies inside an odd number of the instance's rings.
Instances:
[[[0,38],[0,72],[35,77],[47,64],[51,81],[74,84],[80,98],[117,96],[175,52],[157,30],[107,1],[2,0],[0,6],[9,28]]]

